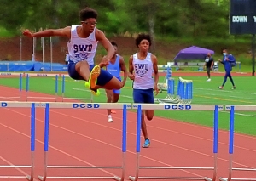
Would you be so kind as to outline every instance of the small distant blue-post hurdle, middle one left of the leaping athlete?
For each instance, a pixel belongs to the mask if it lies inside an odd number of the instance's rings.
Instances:
[[[51,75],[54,76],[54,75]],[[22,77],[20,77],[22,82]],[[20,92],[21,93],[21,92]],[[55,97],[32,97],[28,96],[29,93],[29,74],[26,74],[26,101],[27,99],[55,99],[55,102],[57,102],[58,97],[58,75],[55,75]]]

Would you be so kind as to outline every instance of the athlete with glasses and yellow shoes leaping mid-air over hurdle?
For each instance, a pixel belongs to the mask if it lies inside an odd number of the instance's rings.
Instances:
[[[91,92],[99,95],[98,88],[120,89],[123,83],[108,71],[101,69],[108,65],[113,57],[114,48],[105,37],[104,33],[96,28],[97,12],[91,8],[84,8],[80,11],[81,25],[67,26],[62,29],[49,29],[32,33],[29,30],[23,31],[27,37],[68,37],[68,74],[75,80],[85,80],[85,86]],[[94,65],[97,42],[108,51],[99,65]]]

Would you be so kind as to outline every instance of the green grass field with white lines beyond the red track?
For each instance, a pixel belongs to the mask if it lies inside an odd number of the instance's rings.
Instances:
[[[177,77],[175,83],[177,86]],[[235,76],[236,90],[231,89],[231,83],[228,80],[224,90],[219,90],[218,86],[223,82],[222,76],[212,77],[212,82],[206,82],[205,76],[183,76],[184,79],[193,80],[193,101],[192,104],[202,105],[256,105],[256,84],[253,76]],[[160,78],[163,82],[164,77]],[[59,79],[59,95],[61,95],[61,79]],[[84,82],[73,81],[66,78],[65,97],[71,98],[90,98],[90,91],[84,88]],[[41,93],[55,94],[54,77],[31,77],[29,90]],[[19,88],[19,78],[0,78],[0,85]],[[26,79],[23,78],[23,89],[25,90]],[[175,88],[177,90],[177,88]],[[131,81],[127,81],[125,88],[122,89],[119,102],[132,102]],[[165,98],[166,92],[160,93],[157,98]],[[94,97],[94,102],[106,102],[104,90],[101,95]],[[156,116],[167,119],[178,120],[180,122],[191,122],[207,127],[212,127],[212,111],[188,111],[188,110],[157,110]],[[219,113],[220,129],[229,129],[229,116],[226,111]],[[256,112],[236,111],[236,133],[245,133],[256,135],[255,121]]]

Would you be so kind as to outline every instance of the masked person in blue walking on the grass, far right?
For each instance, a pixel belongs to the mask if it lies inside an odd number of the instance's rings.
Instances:
[[[232,65],[231,64],[233,64],[235,62],[235,60],[233,59],[232,55],[228,54],[227,49],[223,50],[223,55],[224,55],[223,59],[218,59],[218,61],[221,64],[224,65],[224,69],[225,69],[226,73],[225,73],[225,76],[224,76],[224,82],[222,83],[222,86],[219,86],[218,88],[223,89],[224,84],[225,84],[225,82],[227,82],[227,78],[229,77],[230,82],[232,83],[232,86],[233,86],[232,89],[235,89],[236,86],[235,86],[235,83],[234,83],[233,78],[231,76],[231,71],[232,71]]]

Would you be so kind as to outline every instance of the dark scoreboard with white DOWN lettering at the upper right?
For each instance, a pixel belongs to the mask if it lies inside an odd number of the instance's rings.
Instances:
[[[230,34],[256,34],[256,0],[230,0]]]

